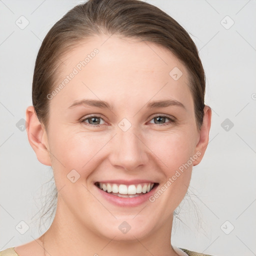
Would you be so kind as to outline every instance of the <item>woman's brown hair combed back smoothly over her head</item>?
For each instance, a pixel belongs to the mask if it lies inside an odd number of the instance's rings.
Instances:
[[[116,34],[168,48],[188,70],[196,125],[200,129],[205,106],[205,75],[196,45],[185,29],[156,6],[140,0],[88,0],[73,7],[51,27],[36,57],[32,103],[46,130],[49,114],[47,94],[56,86],[61,57],[86,38],[100,34]]]

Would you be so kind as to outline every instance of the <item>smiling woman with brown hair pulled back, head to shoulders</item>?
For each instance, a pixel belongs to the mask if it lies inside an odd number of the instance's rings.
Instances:
[[[187,32],[138,0],[89,0],[45,36],[28,140],[58,190],[49,229],[6,255],[205,255],[170,243],[211,109]]]

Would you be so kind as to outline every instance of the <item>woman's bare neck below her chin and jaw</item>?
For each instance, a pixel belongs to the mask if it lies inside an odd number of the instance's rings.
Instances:
[[[104,255],[104,256],[176,256],[170,243],[173,214],[167,223],[151,234],[129,240],[116,240],[97,234],[75,221],[74,216],[56,209],[54,220],[42,235],[45,256]],[[120,253],[121,252],[121,253]]]

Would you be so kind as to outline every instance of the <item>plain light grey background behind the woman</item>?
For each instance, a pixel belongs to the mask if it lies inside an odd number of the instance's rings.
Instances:
[[[0,250],[37,238],[50,224],[38,233],[41,186],[52,170],[36,159],[16,123],[32,104],[42,39],[79,2],[0,0]],[[205,103],[212,108],[208,148],[193,168],[190,199],[180,205],[183,223],[175,219],[172,244],[216,256],[256,255],[256,1],[147,2],[176,19],[196,43],[206,74]],[[29,21],[24,29],[15,23],[21,15]],[[48,189],[43,185],[42,193]],[[29,226],[24,234],[15,228],[20,221]]]

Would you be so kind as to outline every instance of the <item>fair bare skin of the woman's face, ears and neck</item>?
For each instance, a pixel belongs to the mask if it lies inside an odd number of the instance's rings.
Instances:
[[[184,65],[164,47],[116,35],[94,36],[67,53],[55,87],[94,48],[99,50],[95,57],[50,100],[47,130],[32,106],[26,110],[29,143],[37,159],[52,166],[59,191],[54,220],[43,235],[45,249],[51,256],[177,255],[170,244],[173,211],[207,147],[211,109],[204,107],[198,130]],[[169,75],[173,67],[183,73],[178,80]],[[68,108],[84,98],[107,101],[113,109]],[[164,99],[184,108],[145,107]],[[89,114],[104,117],[100,126],[89,126],[91,119],[79,122]],[[154,117],[161,114],[176,121],[157,123]],[[125,132],[118,127],[123,118],[131,124]],[[149,179],[162,186],[196,152],[200,156],[154,202],[119,207],[104,200],[94,185],[106,179]],[[75,183],[66,177],[72,169],[80,174]],[[118,229],[123,221],[131,226],[125,234]],[[43,255],[41,244],[36,239],[15,251]]]

